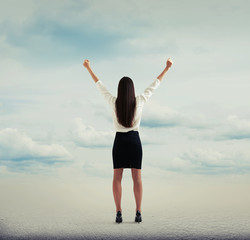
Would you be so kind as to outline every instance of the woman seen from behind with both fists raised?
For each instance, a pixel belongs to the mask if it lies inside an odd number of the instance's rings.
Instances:
[[[141,222],[141,201],[142,201],[142,145],[139,136],[142,109],[147,100],[152,96],[153,91],[160,85],[162,78],[172,66],[169,58],[162,73],[144,90],[135,96],[134,83],[129,77],[123,77],[119,81],[117,97],[113,96],[97,78],[90,67],[89,60],[85,60],[86,67],[97,88],[112,108],[112,118],[116,135],[114,139],[113,157],[113,195],[116,205],[116,222],[122,222],[121,196],[122,196],[122,174],[124,168],[131,168],[134,182],[134,195],[136,202],[135,222]]]

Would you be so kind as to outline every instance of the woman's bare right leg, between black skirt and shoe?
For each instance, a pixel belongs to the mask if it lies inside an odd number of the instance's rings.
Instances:
[[[141,169],[131,168],[132,178],[134,182],[134,194],[136,202],[136,211],[141,212],[141,201],[142,201],[142,180],[141,180]]]

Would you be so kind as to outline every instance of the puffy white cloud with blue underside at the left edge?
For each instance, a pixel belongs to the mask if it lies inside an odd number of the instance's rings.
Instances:
[[[50,164],[71,158],[71,154],[62,145],[40,144],[24,132],[13,128],[5,128],[0,131],[1,162],[39,161]]]

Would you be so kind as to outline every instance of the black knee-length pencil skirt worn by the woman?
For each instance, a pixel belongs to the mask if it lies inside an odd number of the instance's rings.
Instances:
[[[142,155],[142,145],[138,131],[116,132],[112,149],[114,169],[141,169]]]

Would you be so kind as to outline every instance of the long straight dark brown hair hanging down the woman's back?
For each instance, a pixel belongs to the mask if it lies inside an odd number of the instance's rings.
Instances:
[[[132,127],[135,115],[136,98],[134,83],[131,78],[121,78],[115,102],[118,122],[124,127]]]

